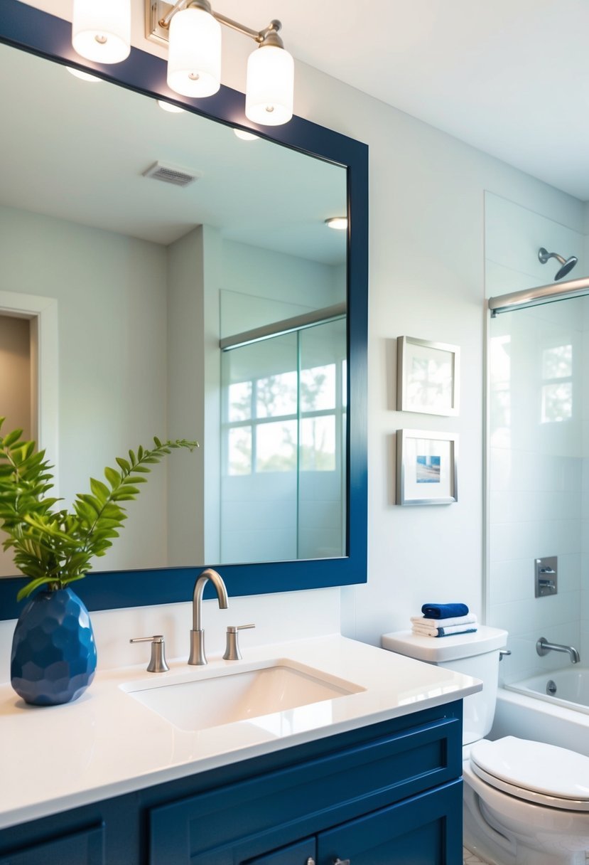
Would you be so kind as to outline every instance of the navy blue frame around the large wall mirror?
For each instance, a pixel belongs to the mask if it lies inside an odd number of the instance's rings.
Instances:
[[[347,169],[348,195],[348,462],[347,555],[339,559],[221,565],[230,595],[287,592],[326,586],[347,586],[367,580],[367,330],[368,330],[368,147],[308,120],[294,117],[274,129],[257,127],[244,115],[244,94],[221,87],[208,99],[187,99],[168,89],[166,63],[153,54],[131,48],[130,57],[116,66],[80,62],[71,44],[71,25],[18,0],[3,0],[0,42],[48,60],[92,70],[104,80],[158,99],[167,99],[204,117],[256,131],[314,157]],[[3,86],[9,86],[4,81]],[[40,130],[42,146],[42,130]],[[276,178],[279,188],[280,179]],[[192,597],[195,567],[92,573],[75,590],[89,610],[149,606],[187,601]],[[26,579],[0,580],[0,619],[16,618],[22,603],[16,593]]]

